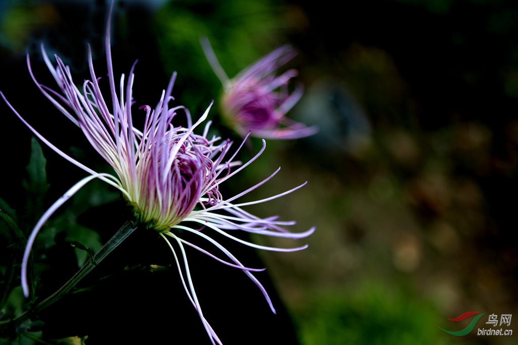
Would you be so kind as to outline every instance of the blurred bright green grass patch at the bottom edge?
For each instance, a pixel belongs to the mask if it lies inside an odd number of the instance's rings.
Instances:
[[[356,291],[320,291],[296,314],[304,345],[448,344],[431,304],[374,284]]]

